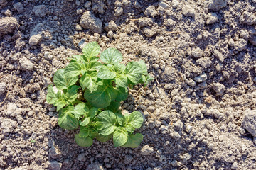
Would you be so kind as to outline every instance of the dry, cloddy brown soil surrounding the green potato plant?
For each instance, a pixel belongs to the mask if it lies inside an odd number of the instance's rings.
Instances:
[[[0,169],[256,169],[256,1],[0,0]],[[82,148],[46,103],[87,42],[142,59],[154,81],[136,149]]]

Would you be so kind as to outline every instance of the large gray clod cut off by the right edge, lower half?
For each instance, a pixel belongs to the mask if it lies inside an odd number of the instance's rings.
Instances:
[[[256,110],[246,110],[242,120],[242,127],[245,128],[253,137],[256,137]]]

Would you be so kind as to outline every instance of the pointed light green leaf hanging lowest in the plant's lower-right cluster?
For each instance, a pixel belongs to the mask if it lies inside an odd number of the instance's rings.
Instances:
[[[114,147],[119,147],[124,145],[127,142],[128,139],[128,132],[122,128],[117,128],[117,130],[114,131],[113,134],[113,142]]]

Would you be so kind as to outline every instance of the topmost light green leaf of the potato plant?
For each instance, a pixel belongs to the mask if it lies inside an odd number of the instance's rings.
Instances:
[[[98,45],[97,42],[90,42],[85,45],[85,47],[82,49],[82,53],[84,55],[84,59],[87,62],[91,62],[92,60],[95,60],[95,57],[99,55],[100,53],[100,45]]]

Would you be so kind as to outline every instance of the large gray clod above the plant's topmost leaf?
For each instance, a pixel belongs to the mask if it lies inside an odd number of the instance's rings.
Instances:
[[[82,28],[90,29],[95,33],[102,32],[102,21],[99,18],[96,18],[92,12],[86,11],[83,13],[80,21]]]

